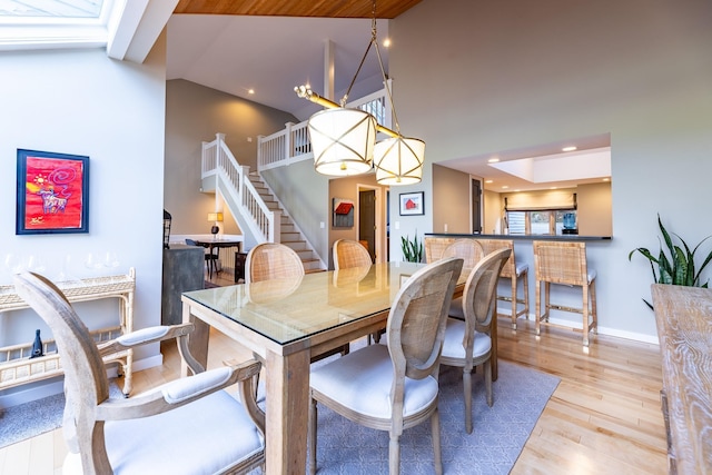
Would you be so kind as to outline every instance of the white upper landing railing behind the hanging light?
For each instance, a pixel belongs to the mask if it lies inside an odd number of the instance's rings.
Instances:
[[[390,87],[390,79],[388,79],[388,87]],[[379,125],[386,128],[392,127],[390,102],[385,88],[348,102],[346,107],[365,110],[372,113]],[[306,120],[296,125],[287,122],[284,130],[267,137],[257,137],[257,169],[260,171],[312,158],[314,157]]]

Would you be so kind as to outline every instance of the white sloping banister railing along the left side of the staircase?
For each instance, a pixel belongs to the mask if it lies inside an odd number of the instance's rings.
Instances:
[[[258,243],[279,243],[281,211],[271,211],[249,181],[249,167],[240,166],[225,144],[225,133],[216,133],[211,142],[202,142],[202,178],[215,177],[226,185],[230,201],[239,208]],[[234,215],[237,215],[234,212]]]

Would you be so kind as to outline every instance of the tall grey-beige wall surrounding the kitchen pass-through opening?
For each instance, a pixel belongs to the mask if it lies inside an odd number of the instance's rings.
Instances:
[[[710,24],[706,0],[424,0],[390,22],[400,130],[431,162],[610,132],[613,240],[589,253],[600,327],[656,340],[650,266],[627,254],[657,251],[657,212],[691,245],[712,234]],[[431,189],[427,174],[404,191],[429,214]],[[396,219],[392,243],[433,222]]]

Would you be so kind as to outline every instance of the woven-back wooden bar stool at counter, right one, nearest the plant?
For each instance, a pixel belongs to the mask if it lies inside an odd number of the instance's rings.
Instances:
[[[583,315],[583,346],[589,346],[589,333],[597,333],[595,270],[589,269],[585,243],[533,241],[536,271],[536,335],[548,323],[550,311],[561,310]],[[544,283],[544,311],[541,307],[541,284]],[[582,308],[554,305],[550,300],[551,284],[578,286],[583,293]]]

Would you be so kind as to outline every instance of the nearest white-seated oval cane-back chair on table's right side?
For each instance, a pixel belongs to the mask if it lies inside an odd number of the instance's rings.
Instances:
[[[438,260],[400,287],[386,324],[387,346],[368,345],[310,373],[310,473],[316,473],[317,404],[390,434],[388,472],[399,473],[404,429],[431,420],[435,473],[443,473],[438,400],[439,355],[449,300],[463,260]]]

